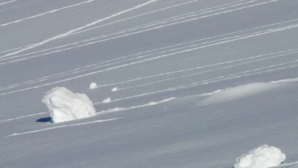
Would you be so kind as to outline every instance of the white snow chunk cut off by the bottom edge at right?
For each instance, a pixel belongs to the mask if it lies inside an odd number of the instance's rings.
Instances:
[[[269,168],[285,160],[286,155],[279,148],[265,144],[238,157],[234,168]]]

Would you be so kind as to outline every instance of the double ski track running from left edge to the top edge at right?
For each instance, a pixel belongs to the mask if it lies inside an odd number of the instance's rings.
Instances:
[[[242,0],[240,0],[240,1],[242,1]],[[256,0],[252,0],[252,1],[249,1],[249,2],[253,2],[253,1],[256,1]],[[277,1],[277,0],[271,0],[271,1]],[[271,2],[271,1],[268,1],[268,2]],[[86,44],[81,44],[81,45],[77,45],[77,46],[74,46],[74,47],[69,47],[69,48],[62,49],[62,50],[57,50],[57,51],[54,51],[54,52],[49,52],[49,53],[45,53],[45,54],[31,56],[31,57],[18,59],[18,60],[14,60],[14,61],[8,61],[8,62],[0,63],[0,65],[1,64],[6,64],[6,63],[12,63],[12,62],[15,62],[15,61],[21,61],[21,60],[25,60],[25,59],[29,59],[29,58],[44,56],[44,55],[52,54],[52,53],[56,53],[56,52],[66,51],[66,50],[70,50],[70,49],[77,48],[77,47],[82,47],[82,46],[86,46],[86,45],[90,45],[90,44],[94,44],[94,43],[99,43],[99,42],[103,42],[103,41],[107,41],[107,40],[111,40],[111,39],[116,39],[116,38],[120,38],[120,37],[124,37],[124,36],[128,36],[128,35],[133,35],[133,34],[137,34],[137,33],[141,33],[141,32],[146,32],[146,31],[149,31],[149,30],[154,30],[154,29],[165,27],[165,26],[170,26],[170,25],[174,25],[174,24],[178,24],[178,23],[183,23],[183,22],[186,22],[186,21],[197,20],[197,19],[200,19],[200,18],[205,18],[205,17],[209,17],[209,16],[213,16],[213,15],[218,15],[218,14],[222,14],[222,13],[229,12],[229,11],[239,10],[239,9],[246,8],[246,7],[252,7],[252,6],[256,6],[256,5],[260,5],[260,4],[264,4],[264,3],[268,3],[268,2],[257,3],[257,4],[253,4],[253,5],[249,5],[249,6],[236,8],[236,9],[226,10],[226,11],[222,11],[222,12],[218,12],[218,13],[214,13],[214,14],[209,14],[209,15],[206,15],[206,16],[201,16],[201,17],[192,18],[192,19],[188,19],[188,20],[182,20],[182,21],[178,21],[178,22],[175,22],[175,23],[165,24],[165,25],[161,25],[161,26],[157,26],[157,27],[152,27],[152,28],[148,28],[148,29],[145,29],[145,30],[141,30],[141,31],[136,31],[136,32],[128,33],[128,34],[119,35],[119,36],[116,36],[116,37],[111,37],[111,38],[98,40],[98,41],[94,41],[94,42],[89,42],[89,43],[86,43]],[[244,3],[240,3],[240,4],[245,4],[245,3],[248,3],[248,2],[244,2]],[[220,8],[220,9],[226,9],[226,8],[237,6],[237,5],[240,5],[240,4],[231,5],[231,6],[223,7],[223,8]],[[226,5],[226,4],[224,4],[224,5]],[[220,5],[220,6],[223,6],[223,5]],[[216,6],[216,7],[219,7],[219,6]],[[210,8],[207,8],[207,9],[210,9]],[[203,10],[199,10],[199,11],[204,11],[204,10],[207,10],[207,9],[203,9]],[[216,10],[220,10],[220,9],[216,9]],[[203,12],[203,13],[199,13],[199,14],[209,13],[209,12],[216,11],[216,10],[211,10],[211,11],[207,11],[207,12]],[[190,13],[193,13],[193,12],[190,12]],[[191,16],[196,16],[196,15],[199,15],[199,14],[194,14],[194,15],[191,15]],[[185,17],[182,17],[182,18],[186,18],[186,17],[190,17],[190,16],[185,16]],[[181,18],[178,18],[178,19],[181,19]],[[174,19],[174,20],[177,20],[177,19]],[[170,20],[170,21],[173,21],[173,20]],[[162,22],[162,23],[166,23],[166,22],[169,22],[169,21],[165,21],[165,22]],[[160,23],[158,23],[158,24],[160,24]],[[157,24],[153,24],[153,25],[157,25]],[[153,25],[149,25],[149,26],[153,26]],[[145,26],[145,27],[149,27],[149,26]],[[141,28],[144,28],[144,27],[141,27]],[[134,28],[132,30],[137,30],[137,29],[140,29],[140,28]],[[127,30],[127,31],[132,31],[132,30]],[[114,33],[112,35],[125,33],[127,31]],[[54,47],[52,49],[59,49],[59,48],[67,47],[67,46],[70,46],[70,45],[76,45],[76,44],[80,44],[80,43],[83,43],[83,42],[88,42],[88,41],[92,41],[92,40],[96,40],[96,39],[101,39],[101,38],[104,38],[104,37],[109,37],[109,36],[112,36],[112,35],[103,35],[103,36],[95,37],[95,38],[93,37],[93,38],[89,38],[89,39],[86,39],[86,40],[82,40],[82,41],[78,41],[78,42],[74,42],[74,43],[70,43],[70,44],[66,44],[66,45],[62,45],[62,46],[58,46],[58,47]],[[30,55],[30,54],[35,54],[35,53],[39,53],[39,52],[44,52],[44,51],[48,51],[48,50],[51,50],[51,48],[41,50],[41,51],[32,52],[32,53],[28,53],[28,54],[23,54],[23,55],[19,55],[19,56],[13,56],[13,57],[9,57],[9,58],[6,58],[6,59],[18,58],[18,57],[22,57],[22,56],[26,56],[26,55]],[[7,57],[6,55],[1,56],[0,58]],[[0,61],[6,60],[6,59],[1,59]]]

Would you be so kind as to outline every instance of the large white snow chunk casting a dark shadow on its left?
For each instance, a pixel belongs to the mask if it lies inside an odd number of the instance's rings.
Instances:
[[[92,101],[86,94],[74,93],[65,87],[53,87],[42,102],[48,107],[53,123],[95,115]]]

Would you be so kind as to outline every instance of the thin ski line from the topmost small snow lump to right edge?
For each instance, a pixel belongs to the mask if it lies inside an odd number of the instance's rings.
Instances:
[[[143,79],[147,79],[147,78],[158,77],[158,76],[163,76],[163,75],[168,75],[168,74],[174,74],[174,73],[180,73],[180,72],[186,72],[186,71],[191,71],[191,70],[196,70],[196,69],[201,69],[201,68],[206,68],[206,67],[213,67],[213,66],[218,66],[218,65],[224,65],[224,64],[228,64],[228,63],[232,63],[232,62],[238,62],[238,61],[243,61],[243,60],[248,60],[248,59],[254,59],[254,58],[264,57],[264,56],[268,56],[268,55],[274,55],[274,54],[284,53],[284,52],[288,52],[288,51],[295,51],[295,50],[298,50],[298,48],[297,49],[293,49],[293,50],[280,51],[280,52],[276,52],[276,53],[270,53],[270,54],[265,54],[265,55],[258,55],[258,56],[248,57],[248,58],[243,58],[243,59],[238,59],[238,60],[232,60],[232,61],[222,62],[222,63],[218,63],[218,64],[211,64],[211,65],[207,65],[207,66],[200,66],[200,67],[195,67],[195,68],[190,68],[190,69],[185,69],[185,70],[167,72],[167,73],[163,73],[163,74],[156,74],[156,75],[151,75],[151,76],[147,76],[147,77],[136,78],[136,79],[133,79],[133,80],[128,80],[128,81],[114,83],[114,84],[102,84],[102,85],[96,86],[96,88],[97,87],[102,87],[102,86],[111,86],[111,85],[117,85],[117,84],[125,84],[125,83],[129,83],[129,82],[133,82],[133,81],[138,81],[138,80],[143,80]],[[287,54],[290,54],[290,53],[287,53]],[[284,54],[284,55],[286,55],[286,54]],[[272,57],[269,57],[269,58],[272,58]]]

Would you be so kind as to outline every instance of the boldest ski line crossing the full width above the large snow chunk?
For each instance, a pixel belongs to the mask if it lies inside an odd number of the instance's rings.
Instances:
[[[233,41],[236,41],[236,40],[246,39],[246,38],[250,38],[250,37],[254,37],[254,36],[264,35],[264,34],[268,34],[268,33],[278,32],[278,31],[287,30],[287,29],[291,29],[291,28],[296,28],[296,27],[298,27],[298,24],[296,24],[294,26],[290,26],[290,27],[286,26],[286,27],[282,27],[282,28],[279,28],[279,29],[266,31],[266,32],[263,32],[263,33],[248,35],[248,36],[244,36],[244,37],[240,37],[240,38],[235,38],[235,39],[232,39],[232,40],[226,40],[226,41],[223,41],[223,42],[218,42],[218,43],[209,44],[209,45],[205,45],[205,46],[201,46],[201,47],[196,47],[196,48],[192,48],[192,49],[178,51],[178,52],[175,52],[175,53],[170,53],[170,54],[165,54],[165,55],[161,55],[161,56],[157,56],[157,57],[152,57],[152,58],[149,58],[149,59],[144,59],[144,60],[141,60],[141,61],[137,61],[137,62],[133,62],[133,63],[129,63],[129,64],[124,64],[124,65],[120,65],[120,66],[117,66],[117,67],[108,68],[108,69],[105,69],[105,70],[95,71],[95,72],[87,73],[87,74],[84,74],[84,75],[79,75],[79,76],[76,76],[76,77],[73,77],[73,78],[68,78],[68,79],[64,79],[64,80],[60,80],[60,81],[56,81],[56,82],[52,82],[52,83],[41,84],[41,85],[37,85],[37,86],[34,86],[34,87],[27,87],[27,88],[24,88],[24,89],[5,92],[5,93],[1,93],[0,95],[14,93],[14,92],[28,90],[28,89],[33,89],[33,88],[38,88],[38,87],[45,86],[45,85],[50,85],[50,84],[57,84],[57,83],[70,81],[70,80],[74,80],[74,79],[77,79],[77,78],[82,78],[82,77],[85,77],[85,76],[89,76],[89,75],[93,75],[93,74],[97,74],[97,73],[101,73],[101,72],[105,72],[105,71],[109,71],[109,70],[113,70],[113,69],[118,69],[118,68],[135,65],[135,64],[138,64],[138,63],[142,63],[142,62],[147,62],[147,61],[150,61],[150,60],[153,60],[153,59],[163,58],[163,57],[170,56],[170,55],[180,54],[180,53],[184,53],[184,52],[198,50],[198,49],[205,48],[205,47],[215,46],[215,45],[219,45],[219,44],[233,42]]]

